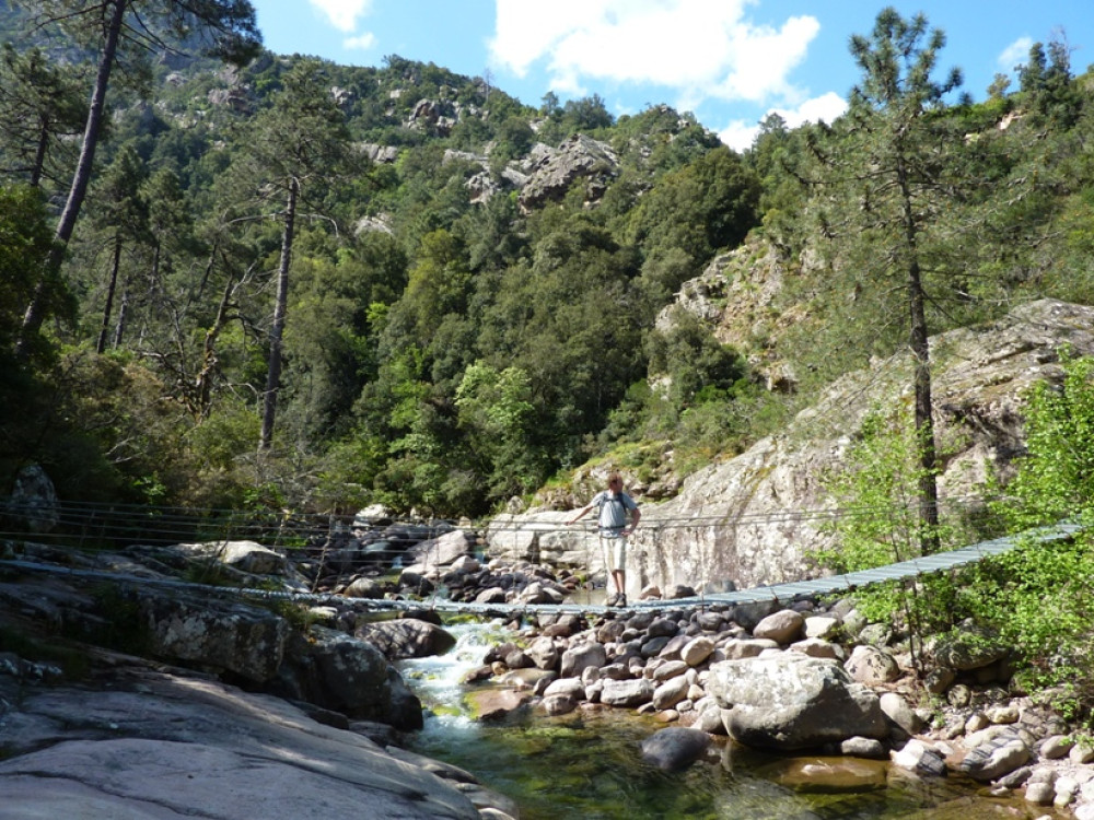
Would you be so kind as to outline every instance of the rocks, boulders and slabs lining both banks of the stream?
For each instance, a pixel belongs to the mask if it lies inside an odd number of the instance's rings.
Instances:
[[[350,803],[377,818],[515,816],[472,774],[398,745],[399,730],[421,725],[421,704],[392,663],[451,646],[439,618],[377,620],[354,597],[407,594],[403,582],[386,590],[350,582],[304,611],[61,572],[166,581],[171,555],[210,554],[247,586],[295,583],[283,557],[258,544],[9,551],[56,572],[0,579],[9,649],[0,656],[0,790],[11,798],[0,816],[101,817],[114,806],[106,813],[243,818],[277,805],[328,817]],[[580,585],[572,573],[466,551],[404,575],[499,604],[561,600]],[[922,778],[969,777],[1027,817],[1094,818],[1094,749],[1047,703],[1014,691],[1005,647],[936,645],[929,664],[915,673],[900,642],[850,601],[696,611],[666,600],[514,619],[467,683],[486,722],[516,710],[650,715],[664,728],[637,753],[668,772],[715,742],[788,758],[819,751],[842,762],[794,775],[817,788],[846,788],[861,774],[857,761],[875,760]]]

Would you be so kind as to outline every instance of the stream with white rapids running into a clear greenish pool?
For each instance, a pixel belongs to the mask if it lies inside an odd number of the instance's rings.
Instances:
[[[953,777],[920,780],[886,763],[854,790],[795,777],[804,766],[846,760],[787,759],[722,739],[683,772],[641,760],[641,742],[663,725],[628,710],[581,711],[547,717],[532,711],[504,723],[469,717],[464,673],[481,665],[499,625],[449,626],[456,647],[442,657],[399,667],[427,708],[412,749],[472,772],[482,785],[514,799],[521,820],[981,820],[1046,815],[1016,799],[997,800]],[[475,684],[481,686],[481,684]],[[845,784],[846,786],[846,784]]]

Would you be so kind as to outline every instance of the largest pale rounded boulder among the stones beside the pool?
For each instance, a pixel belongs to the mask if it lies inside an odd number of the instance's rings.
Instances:
[[[753,748],[796,751],[888,735],[877,695],[836,660],[792,652],[723,660],[711,666],[707,689],[729,710],[730,736]]]

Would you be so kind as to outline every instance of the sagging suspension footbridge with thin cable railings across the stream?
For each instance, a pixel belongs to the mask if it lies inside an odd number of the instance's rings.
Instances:
[[[4,507],[0,507],[3,509]],[[10,505],[7,507],[11,509]],[[50,513],[48,531],[43,532],[40,520],[35,524],[31,511],[22,517],[9,512],[3,516],[5,526],[0,528],[0,539],[9,544],[33,540],[35,543],[53,544],[56,548],[75,550],[117,549],[131,544],[174,544],[186,540],[216,540],[228,543],[231,540],[249,539],[265,542],[275,550],[291,553],[301,550],[309,539],[329,539],[331,531],[347,531],[352,519],[323,517],[292,517],[274,513],[240,513],[238,511],[194,511],[178,508],[150,508],[125,505],[81,505],[62,504]],[[798,513],[801,515],[801,513]],[[830,511],[823,513],[831,515]],[[683,526],[683,525],[680,525]],[[700,526],[700,525],[694,525]],[[711,526],[709,520],[701,526]],[[391,528],[395,527],[394,530]],[[35,530],[39,531],[35,531]],[[388,525],[388,532],[412,532],[420,538],[432,538],[452,531],[452,522],[404,522]],[[335,593],[301,589],[269,589],[246,585],[223,586],[188,582],[175,577],[152,577],[147,574],[128,574],[72,563],[26,557],[0,559],[0,569],[13,572],[47,573],[86,581],[102,581],[142,586],[160,586],[165,589],[201,591],[218,596],[241,596],[260,600],[282,600],[310,606],[339,606],[366,611],[400,611],[407,613],[433,611],[449,614],[472,614],[479,617],[515,618],[532,614],[584,614],[603,616],[608,612],[642,610],[717,609],[736,605],[776,601],[793,602],[819,596],[840,595],[861,587],[885,582],[907,582],[921,576],[943,573],[968,566],[985,559],[1002,555],[1021,544],[1050,546],[1067,541],[1085,529],[1085,525],[1061,522],[1056,525],[1028,530],[1017,535],[981,541],[967,547],[907,561],[845,574],[829,575],[805,581],[788,582],[749,589],[699,594],[686,598],[637,600],[625,608],[597,606],[587,602],[567,601],[558,604],[480,604],[450,600],[443,595],[395,596],[385,598],[358,598]],[[395,550],[398,549],[394,548]],[[9,548],[13,555],[13,548]],[[62,553],[62,555],[66,553]],[[365,553],[372,561],[384,560],[383,550]]]

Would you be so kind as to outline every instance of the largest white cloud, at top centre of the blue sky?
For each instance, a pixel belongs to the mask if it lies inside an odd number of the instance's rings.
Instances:
[[[756,25],[753,0],[496,0],[494,66],[526,74],[543,61],[559,92],[586,82],[654,83],[696,103],[782,99],[804,94],[788,81],[819,31],[812,16]]]

